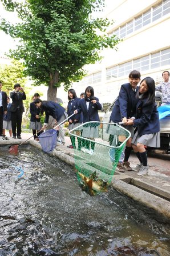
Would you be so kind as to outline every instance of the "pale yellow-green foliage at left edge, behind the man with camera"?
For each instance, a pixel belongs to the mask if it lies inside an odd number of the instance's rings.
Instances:
[[[23,75],[24,67],[19,61],[11,61],[11,65],[3,65],[0,69],[0,80],[3,84],[3,91],[9,95],[13,91],[15,83],[25,86],[26,77]]]

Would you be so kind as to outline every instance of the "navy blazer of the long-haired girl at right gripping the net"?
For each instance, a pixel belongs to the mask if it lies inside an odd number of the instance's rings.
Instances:
[[[139,136],[160,131],[159,113],[155,102],[148,103],[148,99],[139,99],[135,117],[133,124],[137,126]]]

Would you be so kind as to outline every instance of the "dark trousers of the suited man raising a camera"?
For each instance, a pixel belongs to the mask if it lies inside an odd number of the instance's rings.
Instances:
[[[11,125],[13,130],[13,136],[21,136],[21,124],[22,124],[22,112],[17,109],[15,112],[11,112]],[[17,133],[16,133],[17,128]]]

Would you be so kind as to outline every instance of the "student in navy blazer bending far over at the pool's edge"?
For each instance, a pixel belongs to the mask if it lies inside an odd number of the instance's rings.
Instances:
[[[37,105],[37,107],[41,108],[42,112],[44,111],[46,114],[42,130],[46,129],[50,115],[52,115],[52,117],[54,118],[54,123],[53,123],[54,126],[56,126],[57,123],[60,123],[67,118],[66,110],[64,109],[64,107],[60,106],[56,102],[42,101],[41,99],[35,99],[34,103],[35,105]],[[57,127],[57,136],[58,136],[58,133],[59,133],[59,127]]]

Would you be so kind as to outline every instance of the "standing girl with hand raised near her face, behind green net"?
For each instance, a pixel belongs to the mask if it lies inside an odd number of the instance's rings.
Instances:
[[[80,100],[78,110],[75,113],[83,114],[83,123],[90,121],[100,121],[98,110],[102,109],[102,105],[99,102],[99,99],[94,97],[94,89],[91,86],[88,86],[85,90],[85,97]],[[98,137],[98,126],[94,127],[92,125],[84,125],[82,137],[90,138],[94,141],[95,137]],[[91,150],[90,150],[90,142],[86,141],[85,149],[82,147],[82,151],[88,154],[94,154],[95,143],[91,142]]]

